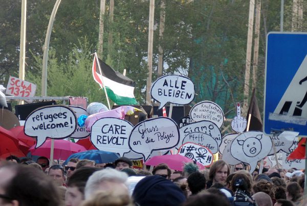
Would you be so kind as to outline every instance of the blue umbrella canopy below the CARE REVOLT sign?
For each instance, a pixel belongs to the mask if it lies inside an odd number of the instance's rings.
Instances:
[[[64,164],[67,164],[68,161],[72,158],[78,158],[80,160],[87,159],[87,160],[93,160],[96,163],[111,163],[117,160],[119,155],[114,152],[109,151],[101,151],[101,150],[87,150],[83,152],[74,153],[71,155]]]

